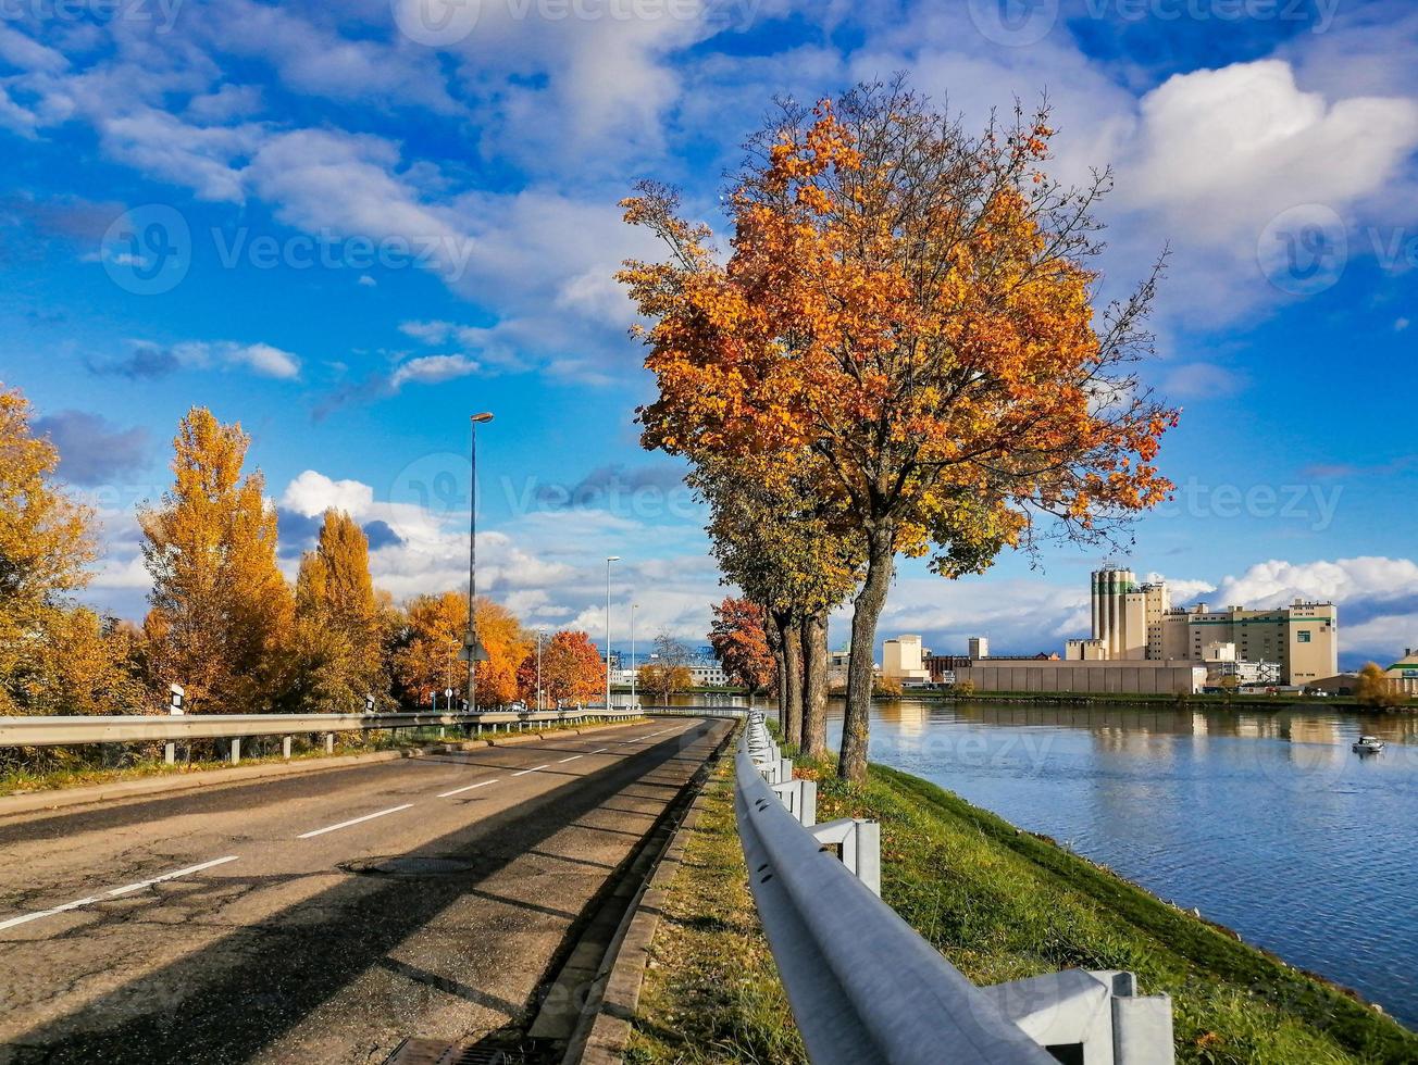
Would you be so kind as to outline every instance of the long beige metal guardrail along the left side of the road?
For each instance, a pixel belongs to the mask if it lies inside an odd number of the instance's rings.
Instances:
[[[115,717],[0,717],[0,748],[84,746],[88,744],[189,742],[193,739],[233,741],[233,761],[241,758],[245,736],[289,738],[325,734],[326,746],[336,732],[369,732],[386,728],[461,727],[496,731],[537,724],[620,719],[640,717],[628,708],[586,707],[581,710],[484,711],[478,714],[411,711],[403,714],[152,714]],[[170,756],[169,751],[169,756]]]

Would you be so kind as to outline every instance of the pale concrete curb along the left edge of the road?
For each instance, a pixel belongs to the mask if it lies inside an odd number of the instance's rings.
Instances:
[[[518,746],[519,744],[530,744],[539,739],[579,736],[584,732],[601,732],[610,728],[628,728],[630,725],[642,724],[645,722],[617,721],[605,725],[591,725],[588,728],[557,728],[547,732],[518,732],[513,735],[498,735],[496,738],[488,739],[462,739],[448,744],[434,744],[431,746],[411,746],[400,751],[372,751],[364,755],[311,758],[292,762],[237,766],[234,769],[199,769],[190,773],[152,776],[139,780],[115,780],[106,785],[64,787],[52,792],[27,792],[24,795],[0,796],[0,820],[27,813],[64,810],[71,806],[91,806],[96,803],[118,802],[121,799],[142,799],[150,795],[190,792],[199,787],[241,785],[250,783],[251,780],[264,780],[267,778],[322,773],[332,769],[347,769],[349,766],[356,765],[397,762],[404,758],[421,758],[424,755],[445,755],[454,751],[476,751],[488,746]]]

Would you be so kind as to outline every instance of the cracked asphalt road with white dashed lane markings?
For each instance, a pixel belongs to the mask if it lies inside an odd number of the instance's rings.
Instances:
[[[0,820],[0,1062],[381,1062],[525,1023],[725,721]]]

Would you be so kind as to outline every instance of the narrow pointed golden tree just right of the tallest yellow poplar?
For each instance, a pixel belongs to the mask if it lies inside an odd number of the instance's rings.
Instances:
[[[380,660],[380,610],[369,575],[369,541],[349,514],[328,510],[313,551],[301,558],[295,583],[292,659],[298,702],[350,712],[387,684]]]

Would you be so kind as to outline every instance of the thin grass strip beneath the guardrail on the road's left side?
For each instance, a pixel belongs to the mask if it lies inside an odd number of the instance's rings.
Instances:
[[[627,724],[644,722],[648,718],[635,718]],[[618,722],[617,722],[618,724]],[[576,722],[542,725],[537,732],[559,732],[580,728]],[[503,734],[498,734],[502,736]],[[516,734],[512,734],[516,735]],[[259,742],[252,742],[252,741]],[[374,729],[364,734],[336,734],[335,752],[328,755],[325,744],[319,739],[295,736],[291,758],[281,755],[279,738],[257,736],[241,741],[241,766],[271,765],[278,762],[305,762],[320,758],[339,758],[345,755],[363,755],[372,751],[397,751],[421,746],[427,744],[458,742],[461,738],[450,729],[447,739],[438,738],[437,727],[418,729]],[[179,751],[183,751],[179,746]],[[24,761],[10,761],[0,763],[0,796],[26,795],[30,792],[52,792],[65,787],[84,787],[88,785],[106,785],[121,780],[142,780],[152,776],[183,776],[187,773],[206,773],[221,769],[234,769],[230,759],[214,753],[213,741],[201,741],[194,745],[194,756],[167,765],[162,761],[160,745],[133,745],[113,755],[112,752],[95,755],[84,749],[64,748],[27,748],[28,758]],[[16,752],[6,752],[13,758]],[[113,763],[105,758],[115,759]]]

